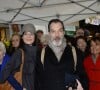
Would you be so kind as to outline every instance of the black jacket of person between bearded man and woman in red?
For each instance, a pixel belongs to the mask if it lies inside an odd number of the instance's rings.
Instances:
[[[82,87],[84,88],[84,90],[89,90],[89,80],[88,80],[88,76],[87,73],[85,71],[83,62],[84,62],[84,58],[87,57],[87,51],[86,52],[82,52],[81,50],[76,48],[76,52],[77,52],[77,75],[80,78],[80,83],[82,84]]]

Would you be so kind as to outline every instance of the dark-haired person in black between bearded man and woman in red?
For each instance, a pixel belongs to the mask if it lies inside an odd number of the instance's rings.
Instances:
[[[76,70],[75,73],[79,76],[79,80],[82,84],[82,87],[84,90],[88,90],[89,84],[88,84],[88,77],[84,69],[84,58],[87,57],[89,51],[87,47],[86,38],[84,36],[78,36],[75,38],[75,46],[72,46],[71,44],[71,38],[65,37],[67,40],[67,44],[70,45],[73,51],[73,56],[76,57]]]

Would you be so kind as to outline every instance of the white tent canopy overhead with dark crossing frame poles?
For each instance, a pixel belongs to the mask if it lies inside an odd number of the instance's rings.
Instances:
[[[0,0],[0,23],[46,25],[59,18],[72,23],[100,14],[100,0]]]

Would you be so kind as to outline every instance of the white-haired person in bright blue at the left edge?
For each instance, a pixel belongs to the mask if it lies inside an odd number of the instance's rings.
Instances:
[[[6,48],[3,42],[0,42],[0,72],[5,67],[6,63],[8,63],[10,57],[6,54]],[[1,75],[1,73],[0,73]],[[5,82],[0,84],[0,90],[22,90],[22,87],[16,81],[16,79],[10,75]]]

